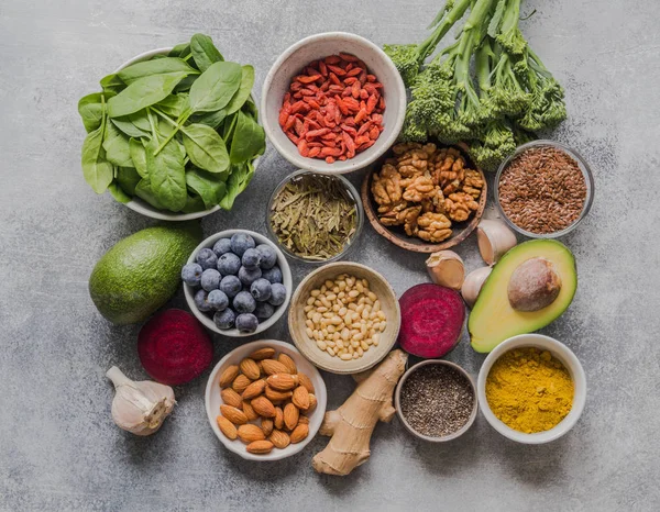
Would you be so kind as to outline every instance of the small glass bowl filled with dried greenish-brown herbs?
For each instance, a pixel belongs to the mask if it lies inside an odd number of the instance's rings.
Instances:
[[[266,225],[290,258],[328,263],[343,257],[362,231],[360,194],[338,175],[298,170],[271,196]]]

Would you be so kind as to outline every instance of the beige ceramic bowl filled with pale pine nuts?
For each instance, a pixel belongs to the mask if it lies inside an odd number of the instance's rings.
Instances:
[[[377,271],[338,261],[309,274],[296,289],[288,313],[300,353],[332,374],[356,374],[378,364],[398,337],[396,293]]]

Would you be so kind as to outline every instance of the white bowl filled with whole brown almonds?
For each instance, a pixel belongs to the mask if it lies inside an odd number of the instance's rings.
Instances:
[[[241,345],[216,365],[206,389],[211,428],[248,460],[279,460],[317,434],[327,402],[319,371],[290,344]]]

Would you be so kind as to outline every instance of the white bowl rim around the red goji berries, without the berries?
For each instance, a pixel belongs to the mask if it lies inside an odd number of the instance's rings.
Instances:
[[[310,43],[317,43],[319,41],[338,38],[338,37],[349,40],[349,41],[352,41],[353,43],[364,45],[370,51],[376,53],[381,58],[383,58],[385,66],[388,68],[388,71],[394,77],[394,81],[397,84],[399,103],[402,107],[399,108],[399,111],[396,112],[396,115],[394,116],[392,133],[389,133],[387,137],[380,136],[377,138],[376,143],[363,153],[363,154],[369,154],[367,158],[365,158],[363,162],[360,162],[359,164],[356,164],[353,159],[346,159],[345,162],[337,160],[332,164],[332,169],[327,170],[323,168],[319,168],[319,165],[317,165],[318,163],[321,163],[323,160],[318,160],[315,158],[305,158],[298,154],[297,148],[294,144],[288,144],[285,147],[284,145],[279,144],[279,142],[277,141],[276,137],[271,135],[271,133],[273,133],[273,131],[282,130],[282,129],[279,126],[279,123],[276,123],[275,121],[273,121],[268,118],[266,104],[267,104],[267,93],[272,87],[272,82],[273,82],[275,75],[277,74],[277,71],[279,70],[282,65],[293,54],[295,54],[298,49],[300,49],[301,47],[304,47]],[[393,90],[392,92],[388,91],[387,93],[396,94],[397,91]],[[331,174],[331,175],[340,174],[341,175],[341,174],[352,172],[354,170],[359,170],[359,169],[363,169],[363,168],[367,167],[369,165],[371,165],[375,160],[377,160],[381,156],[383,156],[383,154],[392,147],[392,145],[395,143],[396,138],[398,137],[398,134],[402,131],[402,127],[404,126],[404,120],[406,116],[406,105],[407,105],[407,96],[406,96],[406,86],[404,84],[404,80],[403,80],[400,74],[398,73],[398,70],[396,69],[396,66],[394,65],[392,59],[387,56],[387,54],[385,52],[383,52],[383,49],[381,49],[376,44],[372,43],[366,37],[362,37],[361,35],[358,35],[358,34],[352,34],[350,32],[322,32],[320,34],[309,35],[309,36],[298,41],[297,43],[294,43],[277,58],[277,60],[275,60],[275,63],[273,64],[273,66],[271,67],[270,71],[268,71],[268,75],[266,76],[266,79],[264,80],[264,85],[262,88],[261,112],[262,112],[262,116],[263,116],[262,124],[263,124],[264,130],[266,131],[266,136],[268,137],[268,141],[271,141],[271,144],[273,144],[273,146],[275,146],[275,148],[277,149],[277,153],[279,153],[282,156],[284,156],[289,163],[292,163],[293,165],[295,165],[296,167],[298,167],[300,169],[311,170],[314,172]],[[387,127],[386,127],[386,130],[387,130]]]

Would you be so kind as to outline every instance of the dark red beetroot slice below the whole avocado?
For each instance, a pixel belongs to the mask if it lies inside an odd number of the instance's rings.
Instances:
[[[213,345],[195,316],[167,310],[144,324],[138,336],[138,354],[153,379],[175,386],[189,382],[209,367]]]

